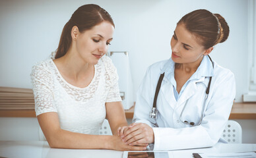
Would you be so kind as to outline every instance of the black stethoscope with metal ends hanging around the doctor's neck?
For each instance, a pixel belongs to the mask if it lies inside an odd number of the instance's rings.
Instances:
[[[209,59],[210,59],[210,56],[208,55]],[[214,65],[213,65],[213,62],[212,62],[212,59],[210,59],[210,62],[212,63],[212,68],[214,68]],[[157,83],[157,86],[156,86],[156,92],[154,93],[154,103],[153,103],[153,107],[150,111],[150,114],[149,114],[149,117],[152,118],[152,119],[157,119],[158,117],[158,110],[156,109],[156,100],[157,100],[157,97],[158,97],[158,93],[159,93],[159,90],[160,90],[160,87],[161,87],[161,84],[162,84],[162,80],[164,78],[164,73],[160,74],[160,77],[159,77],[159,80],[158,80],[158,83]],[[205,101],[203,103],[203,109],[201,111],[201,117],[200,117],[200,121],[199,123],[195,124],[195,122],[189,122],[187,120],[183,120],[182,119],[182,115],[183,115],[183,111],[184,109],[187,107],[187,101],[181,111],[181,114],[179,115],[179,120],[181,122],[183,122],[183,124],[190,124],[191,126],[199,126],[203,120],[203,114],[204,114],[204,111],[205,111],[205,102],[207,101],[207,97],[208,97],[208,93],[210,92],[210,83],[212,82],[212,76],[210,76],[210,79],[209,79],[209,82],[208,82],[208,86],[207,86],[207,90],[206,90],[206,95],[205,95]]]

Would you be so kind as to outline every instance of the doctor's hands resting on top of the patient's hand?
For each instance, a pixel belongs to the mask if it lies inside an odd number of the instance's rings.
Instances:
[[[154,131],[148,124],[133,123],[121,138],[128,145],[150,144],[154,143]]]

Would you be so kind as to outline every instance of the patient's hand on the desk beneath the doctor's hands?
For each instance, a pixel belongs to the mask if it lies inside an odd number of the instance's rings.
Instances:
[[[146,149],[146,145],[142,145],[142,146],[127,145],[121,140],[119,136],[112,136],[108,144],[110,145],[108,149],[114,149],[114,150],[120,150],[120,151],[128,151],[128,150],[143,151]]]

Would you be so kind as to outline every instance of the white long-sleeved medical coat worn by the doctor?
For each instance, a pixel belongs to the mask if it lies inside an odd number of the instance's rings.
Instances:
[[[170,76],[174,76],[175,66],[172,59],[155,63],[146,71],[137,92],[133,122],[143,122],[153,128],[154,150],[210,147],[220,140],[236,95],[236,83],[234,74],[230,70],[222,68],[216,62],[213,62],[214,68],[212,68],[212,64],[209,64],[210,60],[208,57],[205,59],[206,57],[203,59],[205,62],[202,61],[195,72],[197,79],[188,82],[177,101],[170,82]],[[156,102],[158,118],[155,121],[149,118],[149,113],[159,76],[163,72],[165,76],[158,93]],[[201,74],[205,76],[199,76]],[[212,82],[201,124],[199,126],[183,124],[179,117],[186,102],[182,119],[195,124],[199,122],[209,76],[212,76]]]

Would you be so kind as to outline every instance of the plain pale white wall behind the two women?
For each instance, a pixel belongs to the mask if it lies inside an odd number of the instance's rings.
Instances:
[[[112,15],[115,34],[109,51],[129,51],[135,92],[146,68],[170,57],[170,39],[181,16],[195,9],[221,14],[230,25],[230,37],[211,56],[234,72],[236,101],[247,92],[245,0],[1,0],[0,86],[31,88],[32,65],[55,51],[64,24],[86,3],[96,3]]]

